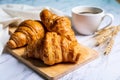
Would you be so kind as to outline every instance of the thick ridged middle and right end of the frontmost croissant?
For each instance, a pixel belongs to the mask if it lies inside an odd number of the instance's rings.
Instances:
[[[80,57],[77,42],[69,41],[56,32],[47,32],[43,45],[41,59],[48,65],[60,62],[76,62]]]

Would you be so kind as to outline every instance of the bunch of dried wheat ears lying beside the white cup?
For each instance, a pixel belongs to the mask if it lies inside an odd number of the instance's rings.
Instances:
[[[104,54],[109,54],[114,44],[114,37],[119,31],[120,26],[106,27],[97,31],[96,35],[94,36],[96,39],[96,46],[105,44],[107,42],[107,47],[105,48]]]

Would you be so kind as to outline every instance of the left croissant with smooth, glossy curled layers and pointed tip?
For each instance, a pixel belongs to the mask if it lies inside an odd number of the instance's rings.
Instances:
[[[25,20],[11,35],[7,42],[8,47],[18,48],[31,44],[44,37],[44,28],[41,22],[36,20]]]

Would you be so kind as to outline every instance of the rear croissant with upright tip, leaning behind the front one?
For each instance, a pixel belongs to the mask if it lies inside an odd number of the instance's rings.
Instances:
[[[69,40],[76,40],[75,34],[71,29],[71,22],[67,17],[60,17],[51,11],[44,9],[40,13],[40,18],[48,31],[57,32]]]

